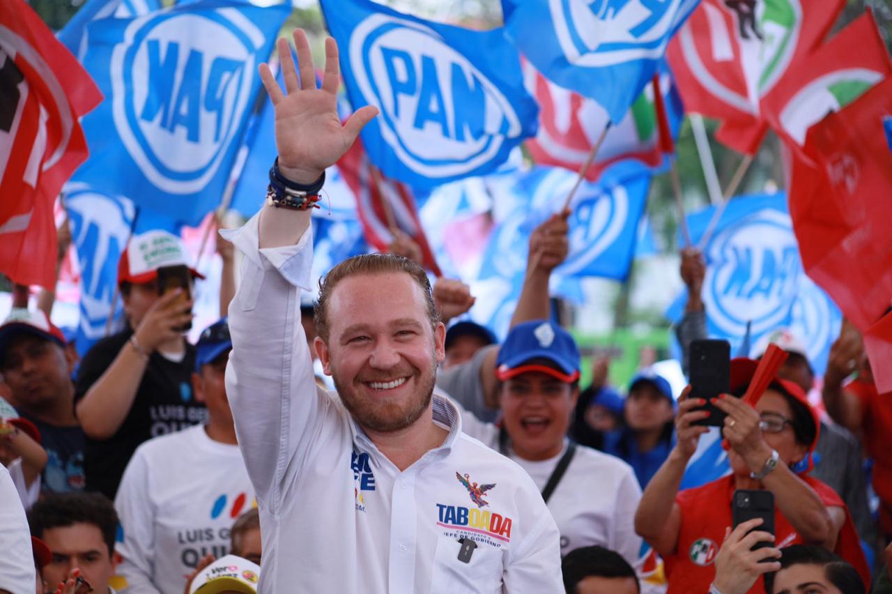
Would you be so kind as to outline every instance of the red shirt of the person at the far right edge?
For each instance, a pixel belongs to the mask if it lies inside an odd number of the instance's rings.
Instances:
[[[873,458],[873,490],[880,498],[880,524],[892,534],[892,392],[880,394],[873,382],[847,384],[861,400],[864,449]]]

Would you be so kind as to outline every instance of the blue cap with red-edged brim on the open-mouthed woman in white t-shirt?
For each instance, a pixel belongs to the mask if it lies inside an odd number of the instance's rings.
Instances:
[[[531,362],[546,359],[554,367]],[[579,379],[579,349],[564,328],[533,320],[511,328],[496,359],[496,376],[505,381],[528,371],[541,371],[572,384]]]

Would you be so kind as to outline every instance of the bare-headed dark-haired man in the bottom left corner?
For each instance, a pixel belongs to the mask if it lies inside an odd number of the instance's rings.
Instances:
[[[53,552],[44,567],[44,581],[54,588],[74,569],[96,594],[113,594],[109,580],[115,573],[114,538],[118,515],[102,493],[49,494],[28,514],[31,535]]]

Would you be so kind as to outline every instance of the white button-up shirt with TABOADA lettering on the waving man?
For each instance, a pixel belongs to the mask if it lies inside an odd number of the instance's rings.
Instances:
[[[563,592],[558,529],[539,491],[461,433],[448,400],[432,405],[446,441],[401,472],[334,392],[317,389],[297,288],[310,287],[311,233],[260,250],[258,219],[227,234],[244,253],[227,394],[260,508],[259,591]],[[465,474],[495,485],[482,505]],[[465,537],[478,545],[469,563],[458,560]]]

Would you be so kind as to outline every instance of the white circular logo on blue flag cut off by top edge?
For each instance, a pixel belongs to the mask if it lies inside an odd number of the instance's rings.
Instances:
[[[549,0],[551,21],[566,59],[600,68],[658,59],[676,15],[690,0]],[[682,12],[683,13],[683,12]]]

